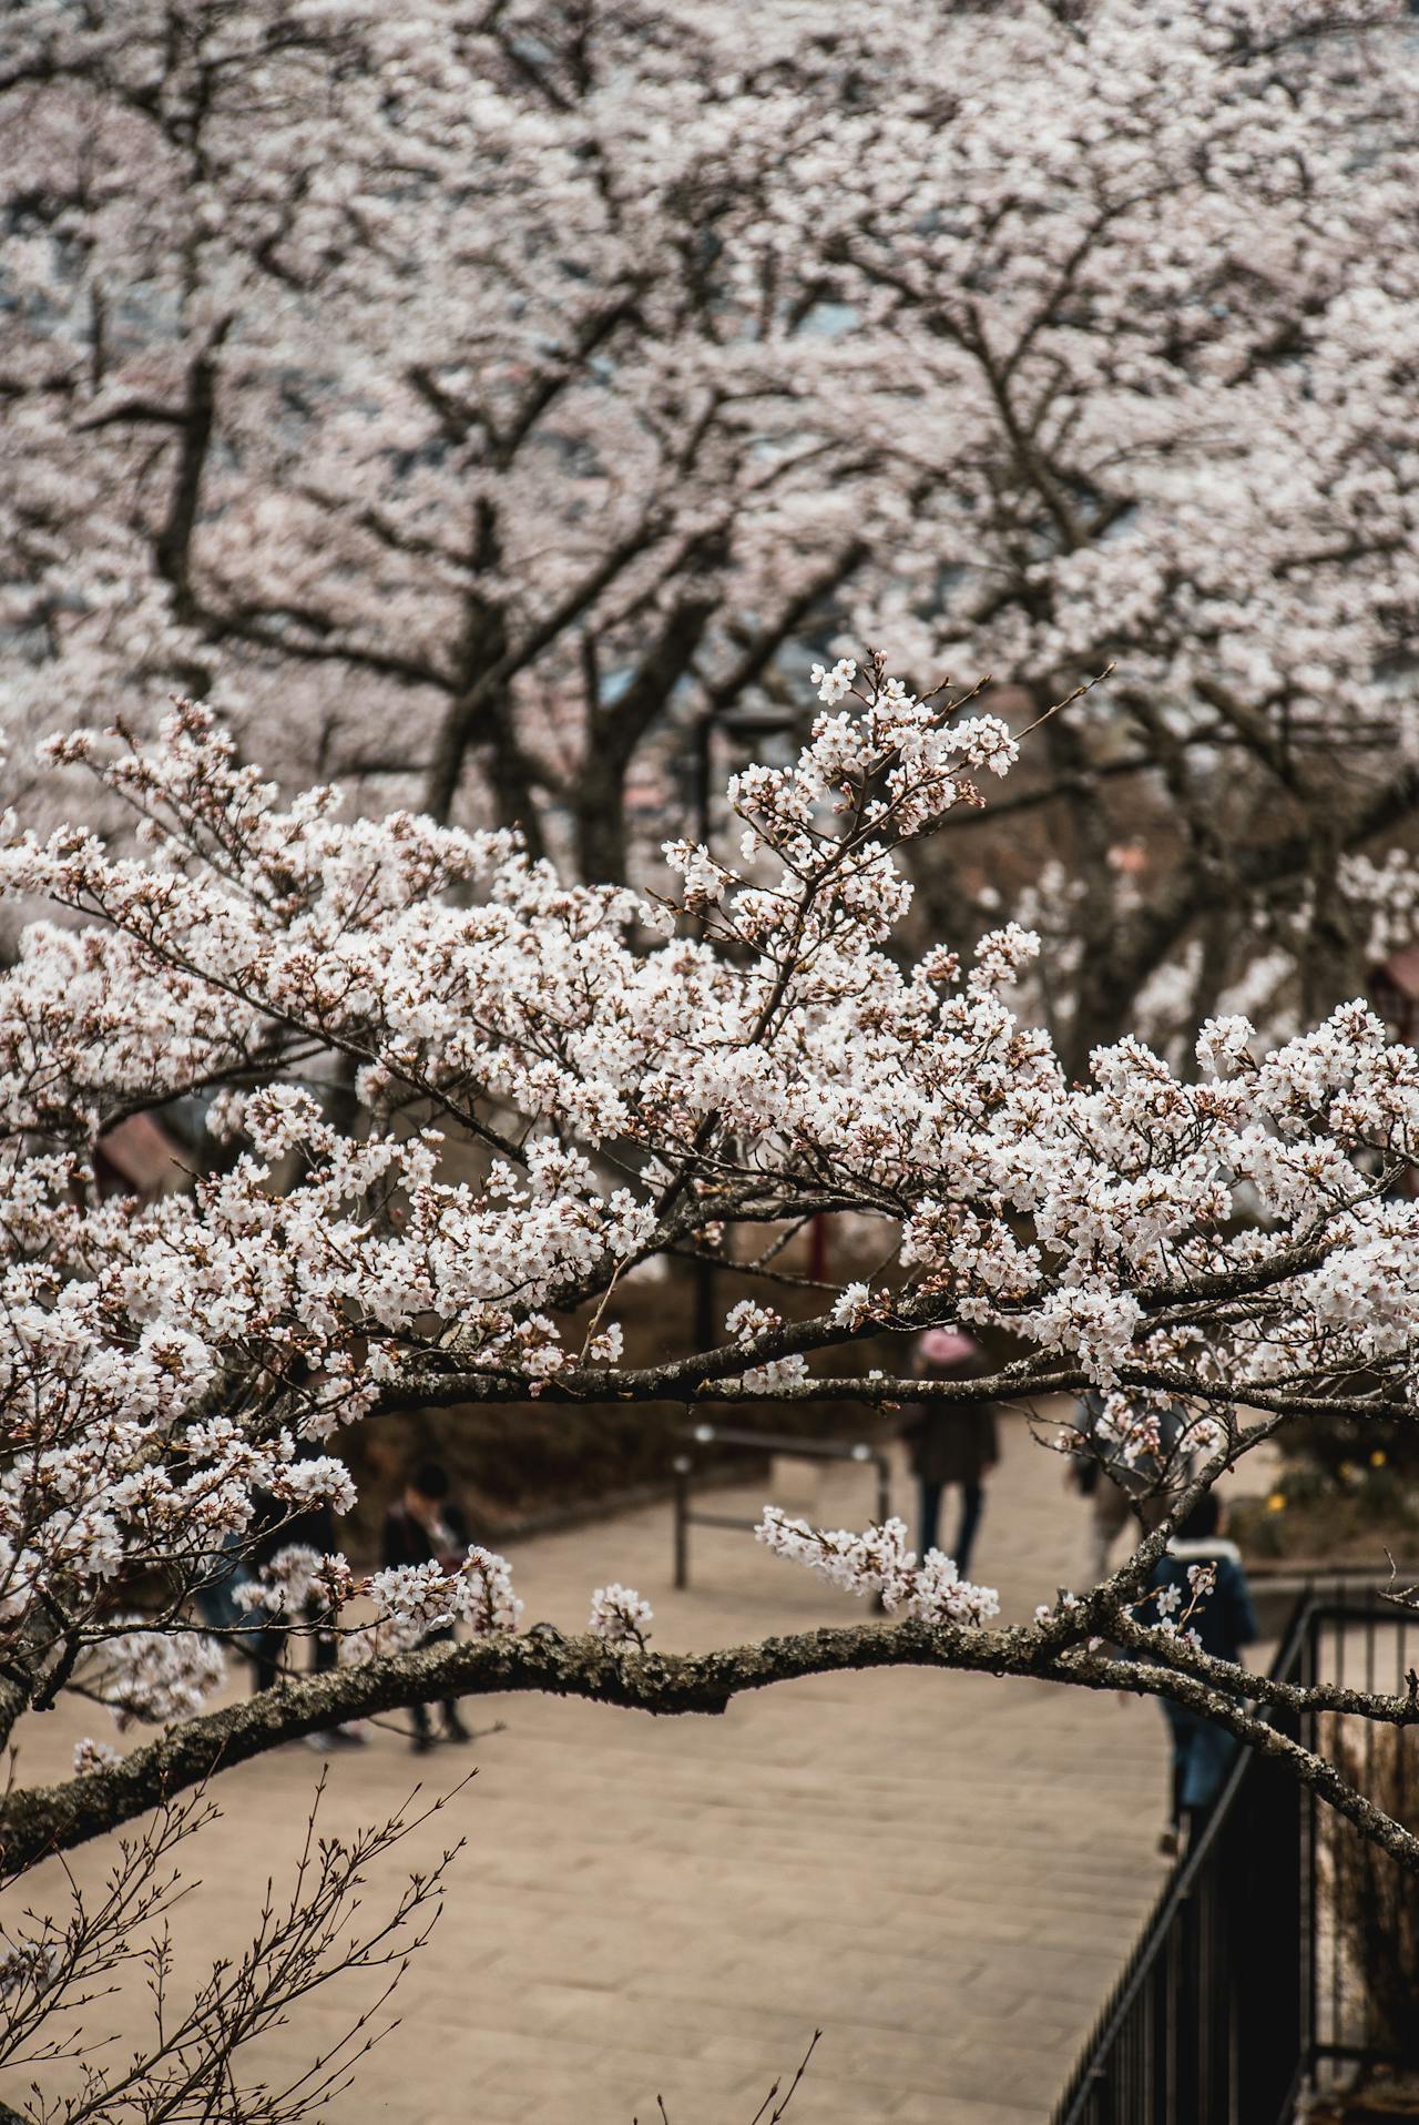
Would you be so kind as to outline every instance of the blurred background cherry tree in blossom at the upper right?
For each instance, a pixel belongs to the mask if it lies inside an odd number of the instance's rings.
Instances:
[[[1419,797],[1413,26],[1009,8],[933,66],[918,23],[920,87],[799,164],[797,234],[909,363],[903,450],[952,459],[922,646],[1032,712],[1117,663],[1007,801],[1058,858],[1041,1003],[1073,1071],[1141,1016],[1306,1022],[1413,939],[1364,856]],[[1001,878],[956,827],[922,884],[960,933]]]

